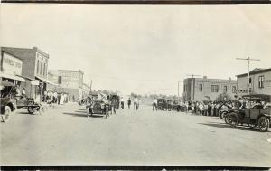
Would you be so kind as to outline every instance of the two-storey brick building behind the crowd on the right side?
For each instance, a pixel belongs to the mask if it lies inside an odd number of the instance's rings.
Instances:
[[[183,81],[183,100],[203,101],[216,100],[220,94],[227,93],[234,99],[237,81],[203,78],[187,78]]]

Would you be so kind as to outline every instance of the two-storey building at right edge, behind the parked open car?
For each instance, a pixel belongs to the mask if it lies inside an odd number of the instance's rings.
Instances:
[[[238,94],[248,93],[248,73],[237,75]],[[271,95],[271,68],[249,72],[249,91],[252,94]]]

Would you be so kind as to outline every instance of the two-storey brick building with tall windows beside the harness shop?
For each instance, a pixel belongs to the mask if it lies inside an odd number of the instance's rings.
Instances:
[[[32,49],[2,47],[2,50],[23,61],[22,76],[26,80],[26,95],[42,100],[42,94],[51,82],[47,79],[49,54],[37,47]]]

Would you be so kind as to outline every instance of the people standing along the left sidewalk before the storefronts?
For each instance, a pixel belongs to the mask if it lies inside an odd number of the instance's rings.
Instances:
[[[48,104],[59,104],[63,105],[68,102],[68,94],[65,92],[57,92],[56,90],[48,90],[43,92],[43,102],[47,102]]]

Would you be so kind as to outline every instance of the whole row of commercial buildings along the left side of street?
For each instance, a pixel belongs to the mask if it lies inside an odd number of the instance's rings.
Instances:
[[[70,101],[89,95],[82,71],[49,71],[49,54],[32,49],[1,47],[0,81],[25,89],[27,97],[41,101],[45,91],[67,93]]]

